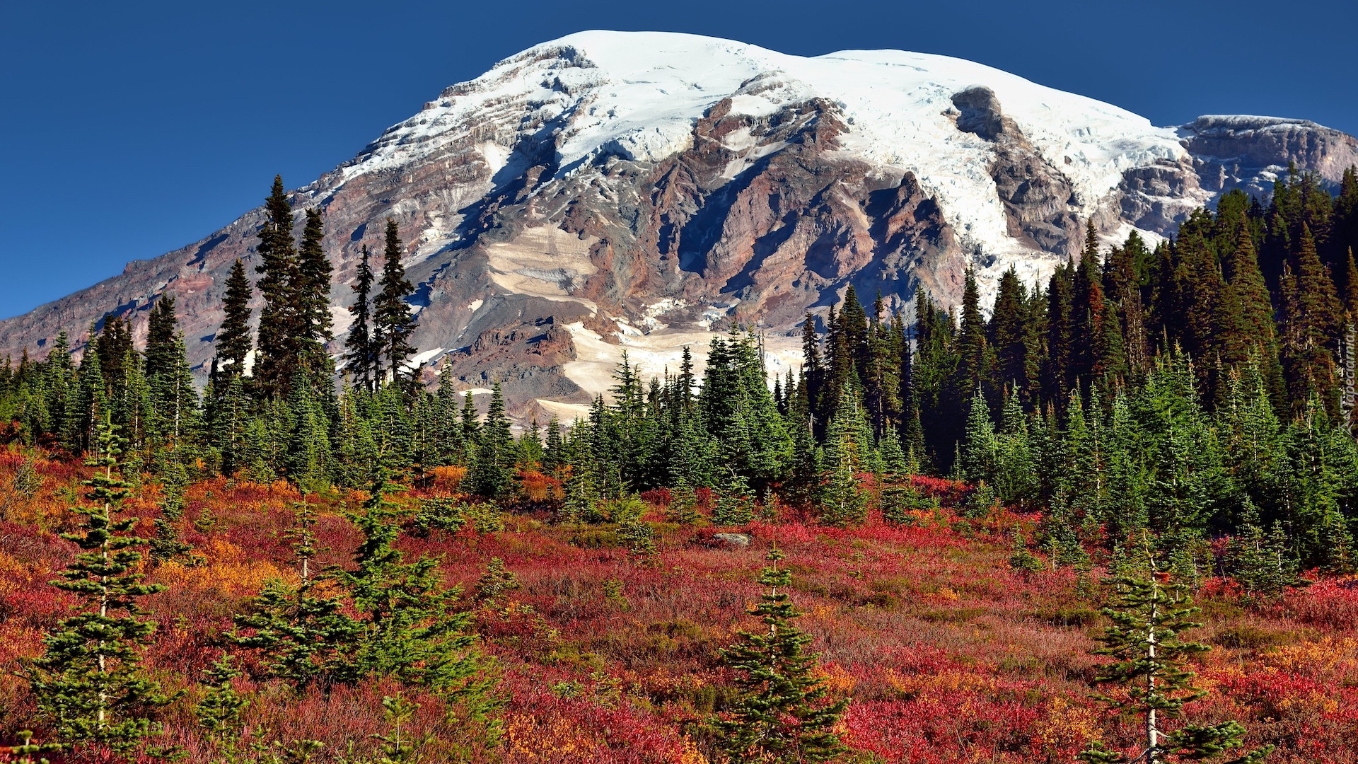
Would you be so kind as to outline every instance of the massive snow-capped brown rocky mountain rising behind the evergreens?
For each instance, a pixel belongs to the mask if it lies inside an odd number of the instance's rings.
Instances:
[[[1358,150],[1293,120],[1156,128],[938,56],[583,33],[449,87],[293,204],[325,212],[338,336],[359,247],[394,218],[425,374],[452,364],[469,389],[498,379],[519,412],[569,419],[622,349],[659,371],[735,319],[792,366],[797,322],[849,284],[904,309],[918,288],[956,300],[968,265],[986,291],[1010,266],[1033,281],[1078,251],[1086,219],[1168,235],[1226,189],[1267,193],[1289,162],[1336,181]],[[261,220],[0,322],[0,352],[41,356],[61,330],[79,345],[105,314],[171,294],[201,374]]]

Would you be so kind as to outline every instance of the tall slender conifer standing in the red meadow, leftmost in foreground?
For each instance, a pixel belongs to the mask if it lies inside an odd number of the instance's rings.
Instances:
[[[80,553],[53,582],[75,595],[79,612],[46,636],[46,651],[33,661],[30,678],[39,710],[62,742],[129,754],[159,731],[152,714],[171,699],[140,667],[143,646],[156,628],[140,601],[164,586],[143,583],[137,548],[147,540],[132,534],[137,518],[120,517],[130,495],[117,469],[124,446],[105,415],[87,462],[98,468],[84,483],[92,506],[75,508],[84,518],[80,533],[62,533]]]

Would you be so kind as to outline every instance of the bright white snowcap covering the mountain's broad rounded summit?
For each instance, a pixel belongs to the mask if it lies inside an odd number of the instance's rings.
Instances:
[[[526,136],[554,143],[558,177],[610,156],[659,162],[687,148],[697,120],[728,97],[735,113],[755,117],[820,98],[847,126],[842,151],[884,174],[914,173],[964,241],[1001,258],[989,268],[998,272],[1032,253],[1008,234],[990,144],[956,126],[952,95],[972,86],[991,88],[1005,116],[1071,179],[1082,215],[1124,170],[1187,158],[1175,129],[961,58],[900,50],[808,58],[691,34],[584,31],[448,88],[344,174],[391,170],[464,141],[494,178],[512,170],[512,147]],[[728,178],[781,148],[735,133],[727,141],[744,152]]]

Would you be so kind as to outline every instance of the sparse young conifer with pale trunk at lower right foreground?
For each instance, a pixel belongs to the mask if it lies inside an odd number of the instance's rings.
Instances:
[[[1112,621],[1099,638],[1104,646],[1099,655],[1114,659],[1103,667],[1095,681],[1119,687],[1115,696],[1101,696],[1118,714],[1137,716],[1145,730],[1143,746],[1137,756],[1126,757],[1109,750],[1101,742],[1090,744],[1080,760],[1088,764],[1118,764],[1145,761],[1202,761],[1225,756],[1240,748],[1245,729],[1240,722],[1219,725],[1184,725],[1165,731],[1165,719],[1179,718],[1184,704],[1207,695],[1194,687],[1196,676],[1187,667],[1188,659],[1207,650],[1206,644],[1184,642],[1181,632],[1202,624],[1191,619],[1198,613],[1192,606],[1187,586],[1164,583],[1156,571],[1156,561],[1148,552],[1149,578],[1120,575],[1116,591],[1103,613]],[[1245,753],[1228,764],[1255,764],[1272,746]]]

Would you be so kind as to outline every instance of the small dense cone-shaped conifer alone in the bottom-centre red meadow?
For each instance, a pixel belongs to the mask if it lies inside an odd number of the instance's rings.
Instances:
[[[847,701],[831,701],[815,676],[819,657],[805,653],[811,635],[793,623],[801,613],[788,598],[792,572],[778,567],[782,552],[766,559],[759,583],[769,591],[751,610],[765,628],[741,631],[740,642],[722,651],[739,697],[731,716],[717,720],[721,748],[735,761],[830,761],[845,752],[834,726]]]

